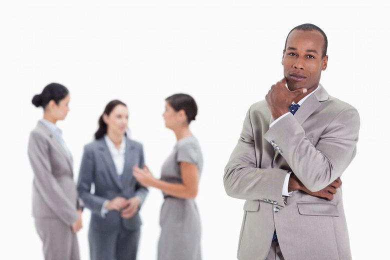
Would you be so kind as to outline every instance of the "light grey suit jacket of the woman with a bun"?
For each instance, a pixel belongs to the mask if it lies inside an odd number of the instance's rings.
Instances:
[[[70,226],[78,218],[71,157],[41,122],[30,133],[27,153],[34,172],[32,215],[56,217]]]

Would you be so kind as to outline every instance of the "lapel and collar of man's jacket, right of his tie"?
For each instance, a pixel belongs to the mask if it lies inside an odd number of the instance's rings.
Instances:
[[[321,105],[321,102],[326,101],[327,99],[329,99],[329,94],[326,92],[325,88],[319,84],[318,89],[303,101],[302,105],[293,116],[299,124],[302,124],[310,116],[310,114],[312,114]],[[273,121],[273,117],[271,116],[269,124]]]

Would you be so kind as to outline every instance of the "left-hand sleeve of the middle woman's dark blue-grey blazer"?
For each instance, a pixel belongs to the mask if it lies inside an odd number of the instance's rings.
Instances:
[[[78,173],[77,191],[84,205],[93,213],[100,215],[101,207],[106,198],[90,193],[90,186],[94,181],[94,165],[93,150],[84,146],[80,172]]]

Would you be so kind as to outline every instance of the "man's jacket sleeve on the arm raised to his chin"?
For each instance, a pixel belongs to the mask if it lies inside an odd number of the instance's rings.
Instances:
[[[348,106],[334,116],[314,146],[298,121],[288,114],[269,128],[264,138],[277,143],[303,185],[318,191],[341,176],[355,156],[359,125],[357,110]]]

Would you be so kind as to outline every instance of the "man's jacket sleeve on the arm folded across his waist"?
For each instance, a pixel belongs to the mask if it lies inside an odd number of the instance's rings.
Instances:
[[[224,169],[226,193],[247,200],[267,198],[283,206],[282,188],[287,170],[260,168],[262,150],[255,147],[250,113],[251,108],[246,113],[237,145]]]

